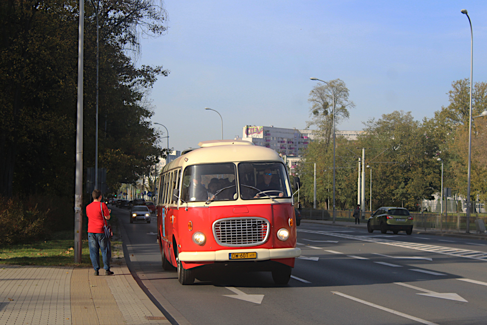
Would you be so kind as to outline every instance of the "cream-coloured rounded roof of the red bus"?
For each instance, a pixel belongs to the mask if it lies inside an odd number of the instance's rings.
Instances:
[[[246,143],[249,145],[247,145]],[[212,140],[199,143],[195,149],[171,161],[163,172],[194,164],[240,162],[240,161],[283,161],[279,153],[259,147],[247,141]]]

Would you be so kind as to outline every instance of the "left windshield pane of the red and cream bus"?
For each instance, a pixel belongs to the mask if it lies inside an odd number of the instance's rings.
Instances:
[[[232,163],[188,166],[183,174],[181,198],[186,202],[236,200],[235,178]]]

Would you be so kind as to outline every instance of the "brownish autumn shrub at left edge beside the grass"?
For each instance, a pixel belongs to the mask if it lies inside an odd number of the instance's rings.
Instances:
[[[49,210],[19,198],[0,198],[0,244],[15,244],[44,239],[50,231],[47,225]]]

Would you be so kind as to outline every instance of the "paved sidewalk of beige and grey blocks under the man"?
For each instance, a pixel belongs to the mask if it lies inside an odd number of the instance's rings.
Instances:
[[[92,268],[4,266],[0,325],[170,324],[125,264],[112,271],[94,276]]]

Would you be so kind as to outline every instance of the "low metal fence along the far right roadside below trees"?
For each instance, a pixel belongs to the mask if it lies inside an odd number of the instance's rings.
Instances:
[[[353,210],[335,210],[337,221],[354,221]],[[439,213],[418,213],[410,212],[412,215],[414,229],[425,231],[456,231],[465,232],[467,229],[467,217],[465,213],[449,213],[440,215]],[[365,211],[365,219],[371,215],[371,211]],[[302,209],[301,219],[312,220],[332,220],[333,210],[322,209]],[[483,220],[487,224],[487,214],[470,214],[470,231],[480,231],[479,223],[476,220]]]

